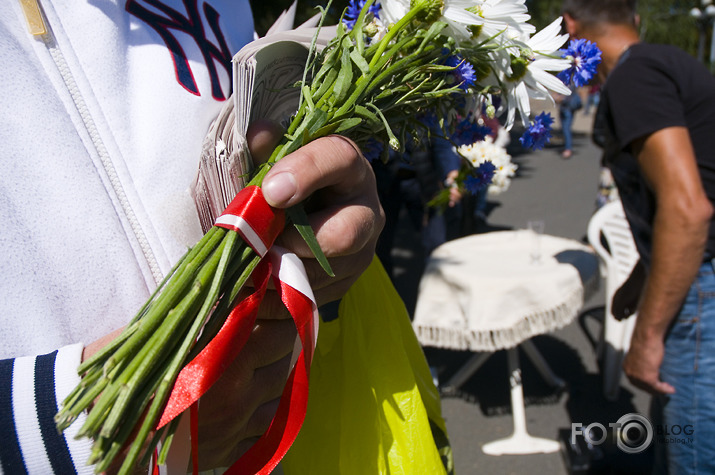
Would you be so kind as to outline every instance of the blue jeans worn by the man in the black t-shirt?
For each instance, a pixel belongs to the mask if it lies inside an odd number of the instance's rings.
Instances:
[[[714,267],[700,267],[666,337],[660,376],[676,392],[653,399],[656,472],[715,473]]]

